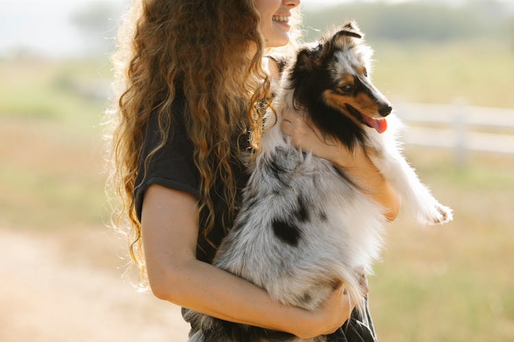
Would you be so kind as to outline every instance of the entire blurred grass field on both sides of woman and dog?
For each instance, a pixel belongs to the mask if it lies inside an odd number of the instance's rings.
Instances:
[[[375,49],[374,80],[390,98],[514,107],[512,51]],[[0,61],[3,228],[55,237],[103,229],[106,100],[92,94],[109,77],[105,61]],[[472,153],[458,168],[447,150],[407,147],[406,156],[455,219],[426,228],[400,215],[387,226],[369,279],[380,341],[514,341],[514,157]],[[101,248],[73,253],[88,259]]]

